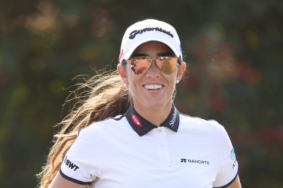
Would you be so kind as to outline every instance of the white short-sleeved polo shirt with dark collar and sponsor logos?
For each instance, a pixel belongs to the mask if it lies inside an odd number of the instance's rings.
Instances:
[[[238,174],[231,141],[214,120],[183,115],[172,103],[157,127],[132,106],[78,132],[62,177],[96,188],[227,187]]]

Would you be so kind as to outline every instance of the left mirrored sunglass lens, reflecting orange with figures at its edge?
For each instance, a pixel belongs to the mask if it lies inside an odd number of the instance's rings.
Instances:
[[[131,60],[131,70],[137,75],[145,73],[151,65],[151,59],[148,57],[137,57]]]

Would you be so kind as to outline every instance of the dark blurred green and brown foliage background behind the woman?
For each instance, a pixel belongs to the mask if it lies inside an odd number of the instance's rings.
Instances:
[[[126,28],[148,18],[186,53],[179,111],[226,128],[242,187],[283,187],[282,0],[0,1],[0,187],[36,187],[72,78],[116,68]]]

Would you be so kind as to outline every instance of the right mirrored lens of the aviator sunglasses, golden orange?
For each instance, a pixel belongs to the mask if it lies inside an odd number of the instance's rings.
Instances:
[[[164,74],[171,74],[177,67],[177,61],[172,57],[160,57],[157,59],[157,66]]]

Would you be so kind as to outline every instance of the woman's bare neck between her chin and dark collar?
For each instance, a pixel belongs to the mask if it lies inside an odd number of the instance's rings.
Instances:
[[[133,103],[136,112],[157,127],[160,127],[160,124],[166,120],[172,109],[172,99],[170,99],[164,106],[159,108],[149,108],[141,105],[135,100]]]

